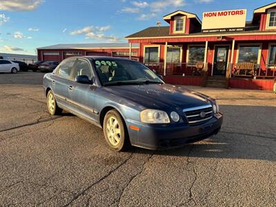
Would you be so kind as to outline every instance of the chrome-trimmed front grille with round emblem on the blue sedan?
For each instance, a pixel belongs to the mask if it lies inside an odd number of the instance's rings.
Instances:
[[[185,113],[188,124],[196,124],[201,121],[207,121],[213,117],[212,105],[186,108],[183,112]]]

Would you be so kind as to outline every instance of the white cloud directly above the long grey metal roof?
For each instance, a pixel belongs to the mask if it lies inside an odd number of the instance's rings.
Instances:
[[[86,26],[70,32],[71,35],[84,34],[86,39],[98,39],[103,41],[121,41],[121,38],[104,34],[110,30],[110,26]]]

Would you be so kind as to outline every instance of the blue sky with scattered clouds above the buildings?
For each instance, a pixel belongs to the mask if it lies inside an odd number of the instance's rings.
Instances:
[[[198,15],[217,10],[253,10],[268,0],[0,0],[0,52],[35,55],[58,43],[126,42],[150,26],[168,26],[164,15],[184,10]]]

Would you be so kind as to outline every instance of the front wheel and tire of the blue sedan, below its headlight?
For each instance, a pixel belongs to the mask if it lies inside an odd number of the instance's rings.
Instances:
[[[128,130],[117,110],[110,110],[103,119],[103,134],[108,146],[120,152],[129,148]]]

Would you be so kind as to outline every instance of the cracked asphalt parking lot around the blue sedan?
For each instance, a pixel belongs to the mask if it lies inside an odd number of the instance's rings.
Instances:
[[[218,99],[218,135],[177,150],[110,150],[101,129],[50,117],[41,72],[0,74],[0,206],[275,206],[276,95]]]

